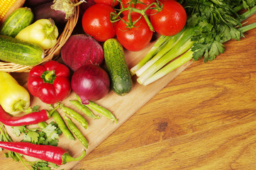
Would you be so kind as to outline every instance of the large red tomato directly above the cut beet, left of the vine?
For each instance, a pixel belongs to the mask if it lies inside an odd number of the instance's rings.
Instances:
[[[116,24],[111,23],[110,13],[115,10],[106,4],[95,4],[87,8],[82,17],[84,33],[104,42],[116,35]]]

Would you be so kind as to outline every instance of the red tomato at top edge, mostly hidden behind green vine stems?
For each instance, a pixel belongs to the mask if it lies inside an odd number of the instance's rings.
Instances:
[[[139,3],[136,4],[136,8],[137,8],[137,9],[140,9],[140,10],[143,10],[143,9],[145,9],[147,6],[149,6],[150,4],[152,4],[153,2],[155,2],[155,0],[140,0],[140,2],[143,3],[143,4],[139,4]],[[124,7],[124,8],[127,8],[127,7],[129,6],[130,0],[122,0],[122,3],[123,3],[123,7]],[[134,4],[131,4],[130,7],[133,7],[133,8],[134,8]],[[149,14],[150,14],[150,11],[151,11],[151,9],[148,9],[148,10],[146,11],[146,14],[149,15]],[[123,13],[123,15],[126,16],[126,15],[128,15],[129,11],[123,11],[122,13]],[[135,13],[135,12],[133,12],[133,13]]]

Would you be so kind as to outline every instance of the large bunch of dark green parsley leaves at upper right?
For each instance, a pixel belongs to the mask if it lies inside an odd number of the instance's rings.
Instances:
[[[199,31],[191,38],[194,41],[193,59],[201,60],[204,56],[204,62],[214,60],[225,51],[223,42],[243,37],[243,33],[237,29],[237,26],[242,26],[240,21],[243,16],[237,12],[240,8],[255,6],[255,0],[189,0],[185,3],[191,16],[188,25],[199,26]]]

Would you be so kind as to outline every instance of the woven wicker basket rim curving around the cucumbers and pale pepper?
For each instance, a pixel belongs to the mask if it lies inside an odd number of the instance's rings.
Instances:
[[[75,0],[74,2],[77,2]],[[77,20],[79,17],[79,6],[76,6],[74,17],[67,21],[64,30],[61,35],[57,38],[57,43],[54,47],[49,50],[45,50],[45,57],[41,63],[48,62],[50,60],[55,60],[60,57],[60,49],[65,44],[69,36],[72,34],[74,27],[77,25]],[[25,66],[20,64],[14,64],[11,62],[0,62],[0,71],[4,72],[29,72],[33,66]]]

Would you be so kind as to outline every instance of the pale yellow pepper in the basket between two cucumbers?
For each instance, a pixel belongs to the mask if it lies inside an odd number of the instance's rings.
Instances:
[[[37,44],[43,50],[48,50],[56,44],[58,35],[57,26],[52,19],[40,19],[23,28],[15,38]]]

